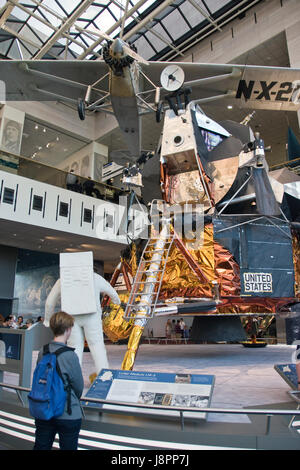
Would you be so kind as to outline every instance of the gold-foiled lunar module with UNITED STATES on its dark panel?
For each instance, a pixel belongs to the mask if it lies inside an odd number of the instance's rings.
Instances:
[[[166,101],[159,148],[140,160],[149,231],[122,254],[123,308],[103,320],[128,338],[126,370],[153,316],[193,315],[195,341],[238,341],[241,315],[300,313],[300,177],[269,171],[251,115],[215,122],[188,91]]]

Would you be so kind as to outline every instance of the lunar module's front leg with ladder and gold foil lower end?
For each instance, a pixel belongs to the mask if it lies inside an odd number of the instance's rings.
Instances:
[[[122,363],[123,370],[132,370],[145,325],[148,318],[153,316],[157,304],[163,274],[174,239],[174,235],[170,236],[169,225],[170,221],[163,219],[158,238],[149,239],[132,285],[125,318],[134,318],[134,326]],[[147,259],[148,257],[149,259]],[[142,285],[143,289],[139,291]]]

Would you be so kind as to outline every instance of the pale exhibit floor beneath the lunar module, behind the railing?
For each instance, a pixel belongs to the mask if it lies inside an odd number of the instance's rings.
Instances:
[[[120,369],[126,345],[107,345],[110,368]],[[240,344],[141,344],[134,370],[211,374],[215,386],[213,408],[280,408],[295,403],[290,387],[275,371],[274,365],[292,362],[295,346],[268,345],[248,349]],[[37,353],[34,353],[33,368]],[[91,354],[83,355],[85,392],[94,372]],[[17,383],[17,376],[4,373],[6,383]],[[210,414],[208,421],[248,422],[246,415]]]

